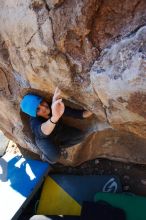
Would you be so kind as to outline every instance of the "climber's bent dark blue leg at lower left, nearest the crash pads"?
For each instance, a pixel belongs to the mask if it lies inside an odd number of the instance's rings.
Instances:
[[[59,148],[49,138],[35,138],[39,150],[42,152],[41,158],[53,164],[60,158]]]

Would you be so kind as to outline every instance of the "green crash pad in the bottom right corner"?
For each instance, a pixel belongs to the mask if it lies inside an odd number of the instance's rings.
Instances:
[[[99,200],[123,209],[127,220],[146,220],[146,197],[117,193],[97,193],[95,202]]]

